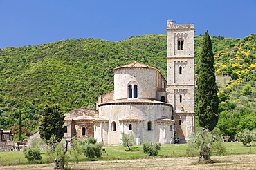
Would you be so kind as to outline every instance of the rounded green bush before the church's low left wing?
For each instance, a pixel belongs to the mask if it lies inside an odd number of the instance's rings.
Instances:
[[[81,147],[84,155],[88,158],[100,158],[102,156],[102,143],[97,142],[93,137],[81,140]]]

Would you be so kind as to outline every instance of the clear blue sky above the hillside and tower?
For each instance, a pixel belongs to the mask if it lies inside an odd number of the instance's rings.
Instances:
[[[0,48],[166,34],[168,19],[244,38],[256,33],[256,0],[0,0]]]

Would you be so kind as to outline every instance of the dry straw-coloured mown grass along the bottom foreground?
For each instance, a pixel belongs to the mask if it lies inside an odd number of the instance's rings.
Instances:
[[[79,162],[68,169],[256,169],[255,155],[212,156],[221,160],[215,164],[193,164],[197,157],[152,158],[138,160],[111,160]],[[0,169],[53,169],[53,164],[3,166]]]

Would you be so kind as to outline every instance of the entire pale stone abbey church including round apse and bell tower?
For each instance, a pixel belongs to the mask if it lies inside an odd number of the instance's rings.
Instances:
[[[167,81],[143,63],[113,68],[114,90],[98,97],[96,109],[64,114],[65,138],[93,136],[104,145],[121,145],[122,133],[145,141],[188,140],[194,131],[194,25],[167,21]]]

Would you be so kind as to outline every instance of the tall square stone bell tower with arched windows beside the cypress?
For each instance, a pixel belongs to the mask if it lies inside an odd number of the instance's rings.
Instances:
[[[194,24],[167,21],[167,102],[174,109],[176,137],[194,132]]]

